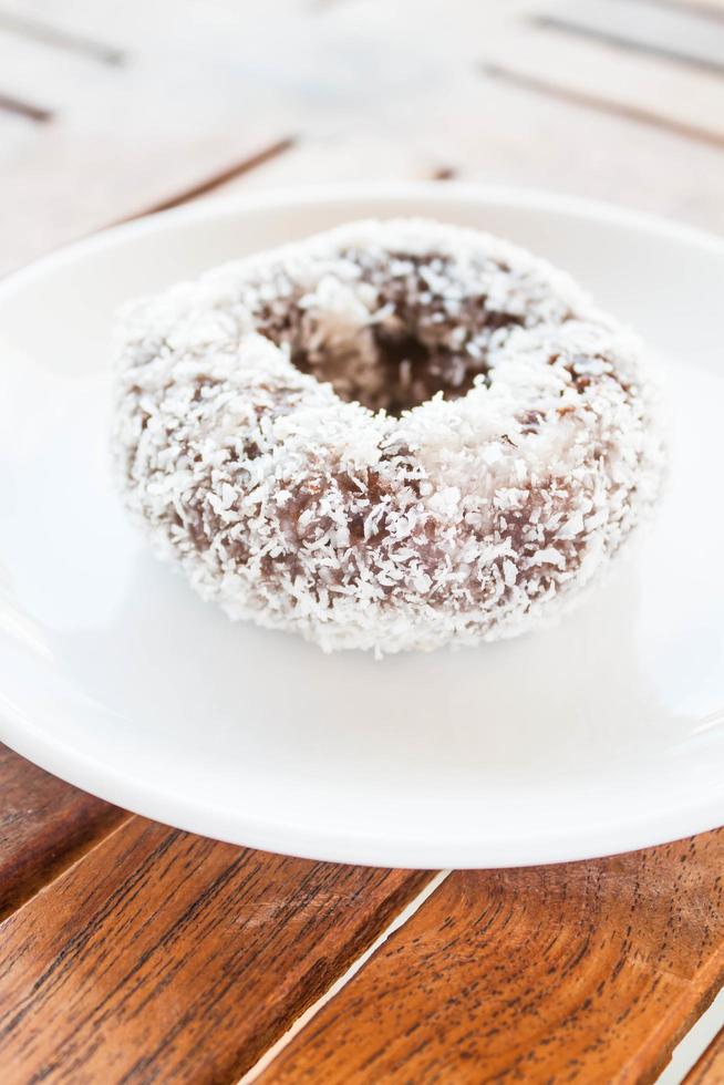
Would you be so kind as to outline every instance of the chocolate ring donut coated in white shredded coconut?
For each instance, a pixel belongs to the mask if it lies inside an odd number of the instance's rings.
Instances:
[[[135,303],[114,451],[156,551],[325,650],[511,637],[655,498],[638,341],[561,272],[426,220],[355,223]]]

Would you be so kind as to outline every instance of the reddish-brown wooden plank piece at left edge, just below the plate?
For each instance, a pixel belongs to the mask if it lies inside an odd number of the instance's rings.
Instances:
[[[0,745],[0,919],[127,815]]]

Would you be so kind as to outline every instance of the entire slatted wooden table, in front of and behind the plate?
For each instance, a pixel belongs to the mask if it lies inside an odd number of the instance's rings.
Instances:
[[[3,0],[0,264],[322,179],[724,230],[723,74],[721,0]],[[282,858],[4,750],[0,1078],[650,1082],[722,985],[723,871],[723,831],[507,871]],[[686,1079],[724,1082],[722,1036]]]

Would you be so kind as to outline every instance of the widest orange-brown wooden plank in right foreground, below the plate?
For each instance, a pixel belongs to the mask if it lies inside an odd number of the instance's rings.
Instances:
[[[652,1082],[724,980],[724,830],[459,871],[258,1077]]]

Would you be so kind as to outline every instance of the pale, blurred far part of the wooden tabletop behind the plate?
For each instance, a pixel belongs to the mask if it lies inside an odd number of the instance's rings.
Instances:
[[[430,177],[724,230],[724,0],[0,0],[0,271],[203,193]]]

